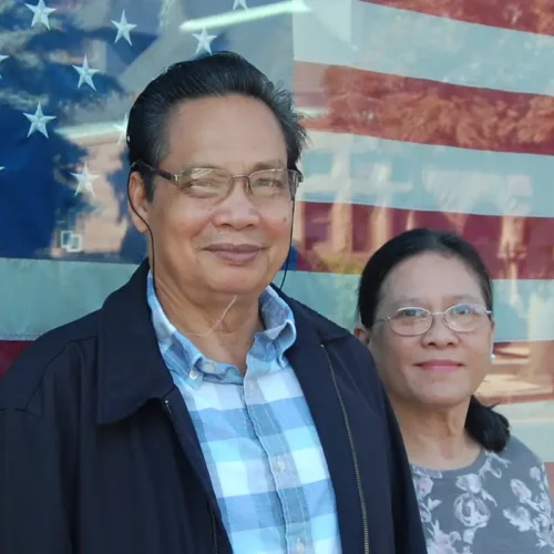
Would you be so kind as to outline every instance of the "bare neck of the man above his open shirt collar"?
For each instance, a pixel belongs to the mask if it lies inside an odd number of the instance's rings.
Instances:
[[[157,278],[156,296],[170,321],[204,356],[246,371],[246,355],[264,330],[257,296],[186,296]]]

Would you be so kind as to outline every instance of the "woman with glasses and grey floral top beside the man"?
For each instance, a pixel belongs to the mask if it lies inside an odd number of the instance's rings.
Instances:
[[[429,553],[553,553],[544,465],[474,397],[494,331],[475,249],[430,229],[394,237],[363,269],[358,311],[357,336],[402,430]]]

